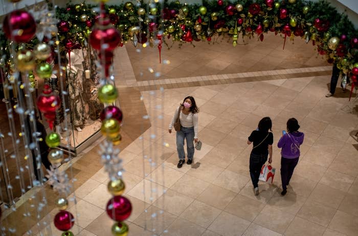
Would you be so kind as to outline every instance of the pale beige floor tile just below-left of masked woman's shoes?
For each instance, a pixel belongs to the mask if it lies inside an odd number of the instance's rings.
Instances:
[[[163,168],[160,166],[146,177],[146,179],[158,183],[159,185],[170,188],[174,183],[184,175],[183,172],[172,168]]]

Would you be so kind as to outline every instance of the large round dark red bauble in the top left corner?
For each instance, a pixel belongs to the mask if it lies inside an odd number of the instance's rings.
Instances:
[[[9,40],[17,43],[28,42],[36,33],[36,22],[30,13],[16,10],[5,16],[3,29]]]

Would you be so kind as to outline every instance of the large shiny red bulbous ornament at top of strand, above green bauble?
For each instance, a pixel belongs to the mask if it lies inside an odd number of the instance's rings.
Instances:
[[[111,51],[116,48],[118,43],[121,41],[121,36],[114,27],[105,27],[104,29],[97,25],[91,35],[89,35],[89,43],[96,50],[107,50]],[[105,45],[105,46],[104,46]]]

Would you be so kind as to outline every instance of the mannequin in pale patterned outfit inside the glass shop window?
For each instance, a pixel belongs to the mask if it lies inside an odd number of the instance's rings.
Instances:
[[[66,55],[69,61],[67,71],[67,84],[69,88],[70,106],[72,125],[77,131],[82,131],[85,122],[84,114],[84,100],[83,93],[83,67],[82,67],[82,53],[78,49],[71,51],[70,58]],[[71,64],[70,64],[71,63]]]

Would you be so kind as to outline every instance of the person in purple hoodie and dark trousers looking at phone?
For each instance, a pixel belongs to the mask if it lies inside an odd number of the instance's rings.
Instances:
[[[295,118],[287,120],[287,133],[282,132],[282,137],[277,143],[281,149],[281,181],[284,196],[287,193],[287,185],[294,173],[295,167],[300,158],[300,145],[303,143],[304,134],[298,132],[300,125]]]

